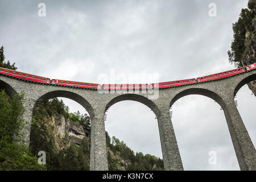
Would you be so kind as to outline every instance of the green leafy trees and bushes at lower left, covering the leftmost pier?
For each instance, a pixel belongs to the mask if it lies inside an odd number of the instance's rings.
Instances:
[[[18,143],[26,122],[22,119],[24,94],[15,94],[11,99],[4,90],[0,91],[0,170],[44,170],[38,159],[26,146]]]

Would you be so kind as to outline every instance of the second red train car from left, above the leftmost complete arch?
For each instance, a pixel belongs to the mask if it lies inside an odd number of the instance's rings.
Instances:
[[[79,81],[59,80],[59,79],[52,79],[51,84],[64,85],[64,86],[76,86],[76,87],[90,88],[90,89],[98,88],[98,84],[79,82]]]

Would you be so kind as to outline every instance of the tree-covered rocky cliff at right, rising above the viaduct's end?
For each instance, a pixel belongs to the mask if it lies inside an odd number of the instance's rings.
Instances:
[[[249,0],[242,9],[236,23],[233,23],[233,40],[228,51],[229,63],[245,67],[256,62],[256,1]],[[256,80],[247,84],[256,96]]]

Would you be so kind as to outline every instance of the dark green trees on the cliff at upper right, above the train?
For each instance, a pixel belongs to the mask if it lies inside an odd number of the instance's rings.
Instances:
[[[242,60],[245,46],[246,32],[254,32],[252,20],[255,18],[255,0],[250,0],[247,7],[242,9],[241,14],[236,23],[233,24],[233,42],[231,43],[231,51],[228,51],[229,62],[234,63],[238,67],[242,67]]]

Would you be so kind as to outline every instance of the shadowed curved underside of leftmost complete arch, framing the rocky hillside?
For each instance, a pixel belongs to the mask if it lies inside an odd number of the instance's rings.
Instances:
[[[81,106],[83,106],[86,109],[86,111],[88,111],[90,118],[94,117],[93,107],[92,107],[92,105],[90,105],[90,103],[84,97],[80,96],[77,93],[66,91],[66,90],[55,90],[52,92],[48,92],[48,93],[44,94],[43,96],[39,97],[38,100],[36,100],[36,102],[35,102],[33,110],[40,102],[48,100],[49,98],[54,98],[54,97],[65,97],[65,98],[69,98],[73,101],[76,101]]]

